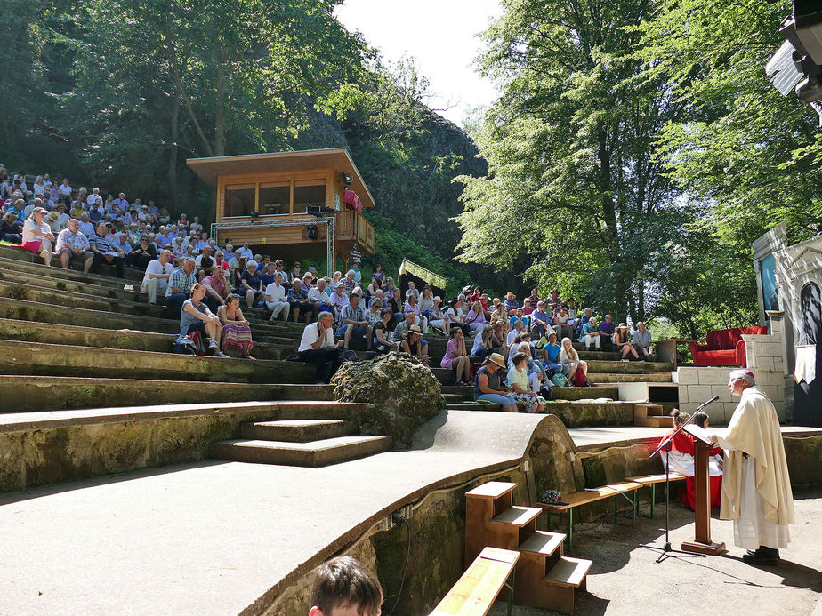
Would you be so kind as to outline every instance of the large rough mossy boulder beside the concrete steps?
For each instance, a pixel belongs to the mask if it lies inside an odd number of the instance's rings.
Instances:
[[[398,449],[407,449],[416,428],[446,405],[437,377],[405,353],[342,364],[331,383],[341,402],[374,404],[359,418],[363,434],[391,436]]]

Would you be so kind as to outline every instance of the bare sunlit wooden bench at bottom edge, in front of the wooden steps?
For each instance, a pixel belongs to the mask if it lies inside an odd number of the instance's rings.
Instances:
[[[513,572],[520,553],[484,548],[443,597],[431,616],[485,616],[503,588],[508,588],[508,614],[513,605]]]

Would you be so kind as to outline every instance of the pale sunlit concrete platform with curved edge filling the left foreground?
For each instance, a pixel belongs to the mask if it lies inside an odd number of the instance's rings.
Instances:
[[[484,414],[325,468],[212,461],[0,494],[0,615],[237,614],[408,495],[516,466],[545,419]]]

